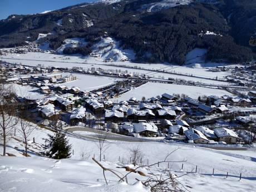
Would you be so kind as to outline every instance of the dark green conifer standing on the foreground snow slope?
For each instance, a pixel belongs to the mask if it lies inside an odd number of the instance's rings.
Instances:
[[[66,159],[71,155],[71,145],[68,144],[67,138],[60,131],[55,135],[49,135],[45,139],[43,155],[53,159]]]

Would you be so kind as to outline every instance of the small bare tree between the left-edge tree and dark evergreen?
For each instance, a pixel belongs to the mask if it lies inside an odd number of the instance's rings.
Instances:
[[[19,118],[19,123],[21,124],[21,127],[18,129],[18,132],[23,137],[23,142],[25,144],[25,156],[28,156],[28,137],[32,134],[32,132],[36,129],[36,126],[33,125],[31,122],[24,120],[22,118]]]

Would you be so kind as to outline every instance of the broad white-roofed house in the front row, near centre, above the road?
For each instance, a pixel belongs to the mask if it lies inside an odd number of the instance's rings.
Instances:
[[[134,131],[137,134],[144,135],[144,136],[154,136],[158,132],[157,126],[153,122],[139,122],[138,124],[134,125]]]

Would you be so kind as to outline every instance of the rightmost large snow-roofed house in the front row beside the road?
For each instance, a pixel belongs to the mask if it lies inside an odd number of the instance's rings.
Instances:
[[[214,134],[218,137],[219,141],[227,142],[227,144],[235,144],[238,139],[238,135],[227,128],[216,128]]]

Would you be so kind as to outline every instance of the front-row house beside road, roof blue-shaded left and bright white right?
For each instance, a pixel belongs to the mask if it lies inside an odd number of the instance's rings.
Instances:
[[[201,131],[191,128],[184,131],[184,134],[188,137],[188,140],[194,141],[195,144],[209,144],[209,139]]]

